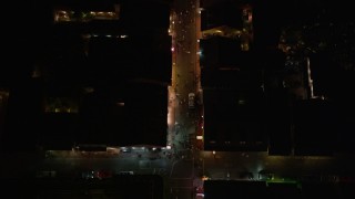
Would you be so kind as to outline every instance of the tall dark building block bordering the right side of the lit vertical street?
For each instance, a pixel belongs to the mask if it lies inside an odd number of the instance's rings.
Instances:
[[[241,1],[202,6],[204,148],[266,150],[265,73],[253,50],[252,7]]]

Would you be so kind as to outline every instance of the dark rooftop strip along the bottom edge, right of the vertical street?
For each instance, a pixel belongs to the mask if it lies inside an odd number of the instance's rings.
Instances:
[[[298,181],[243,181],[243,180],[209,180],[205,182],[205,197],[209,199],[220,198],[221,196],[239,196],[239,197],[280,197],[287,198],[347,198],[354,195],[351,188],[353,182],[341,181],[333,184],[329,181],[316,181],[302,179]]]

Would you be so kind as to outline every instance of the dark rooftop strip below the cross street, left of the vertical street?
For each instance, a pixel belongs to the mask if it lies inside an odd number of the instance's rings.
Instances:
[[[14,187],[19,191],[10,191]],[[118,175],[105,180],[9,179],[4,188],[17,198],[164,198],[163,179],[156,175]]]

